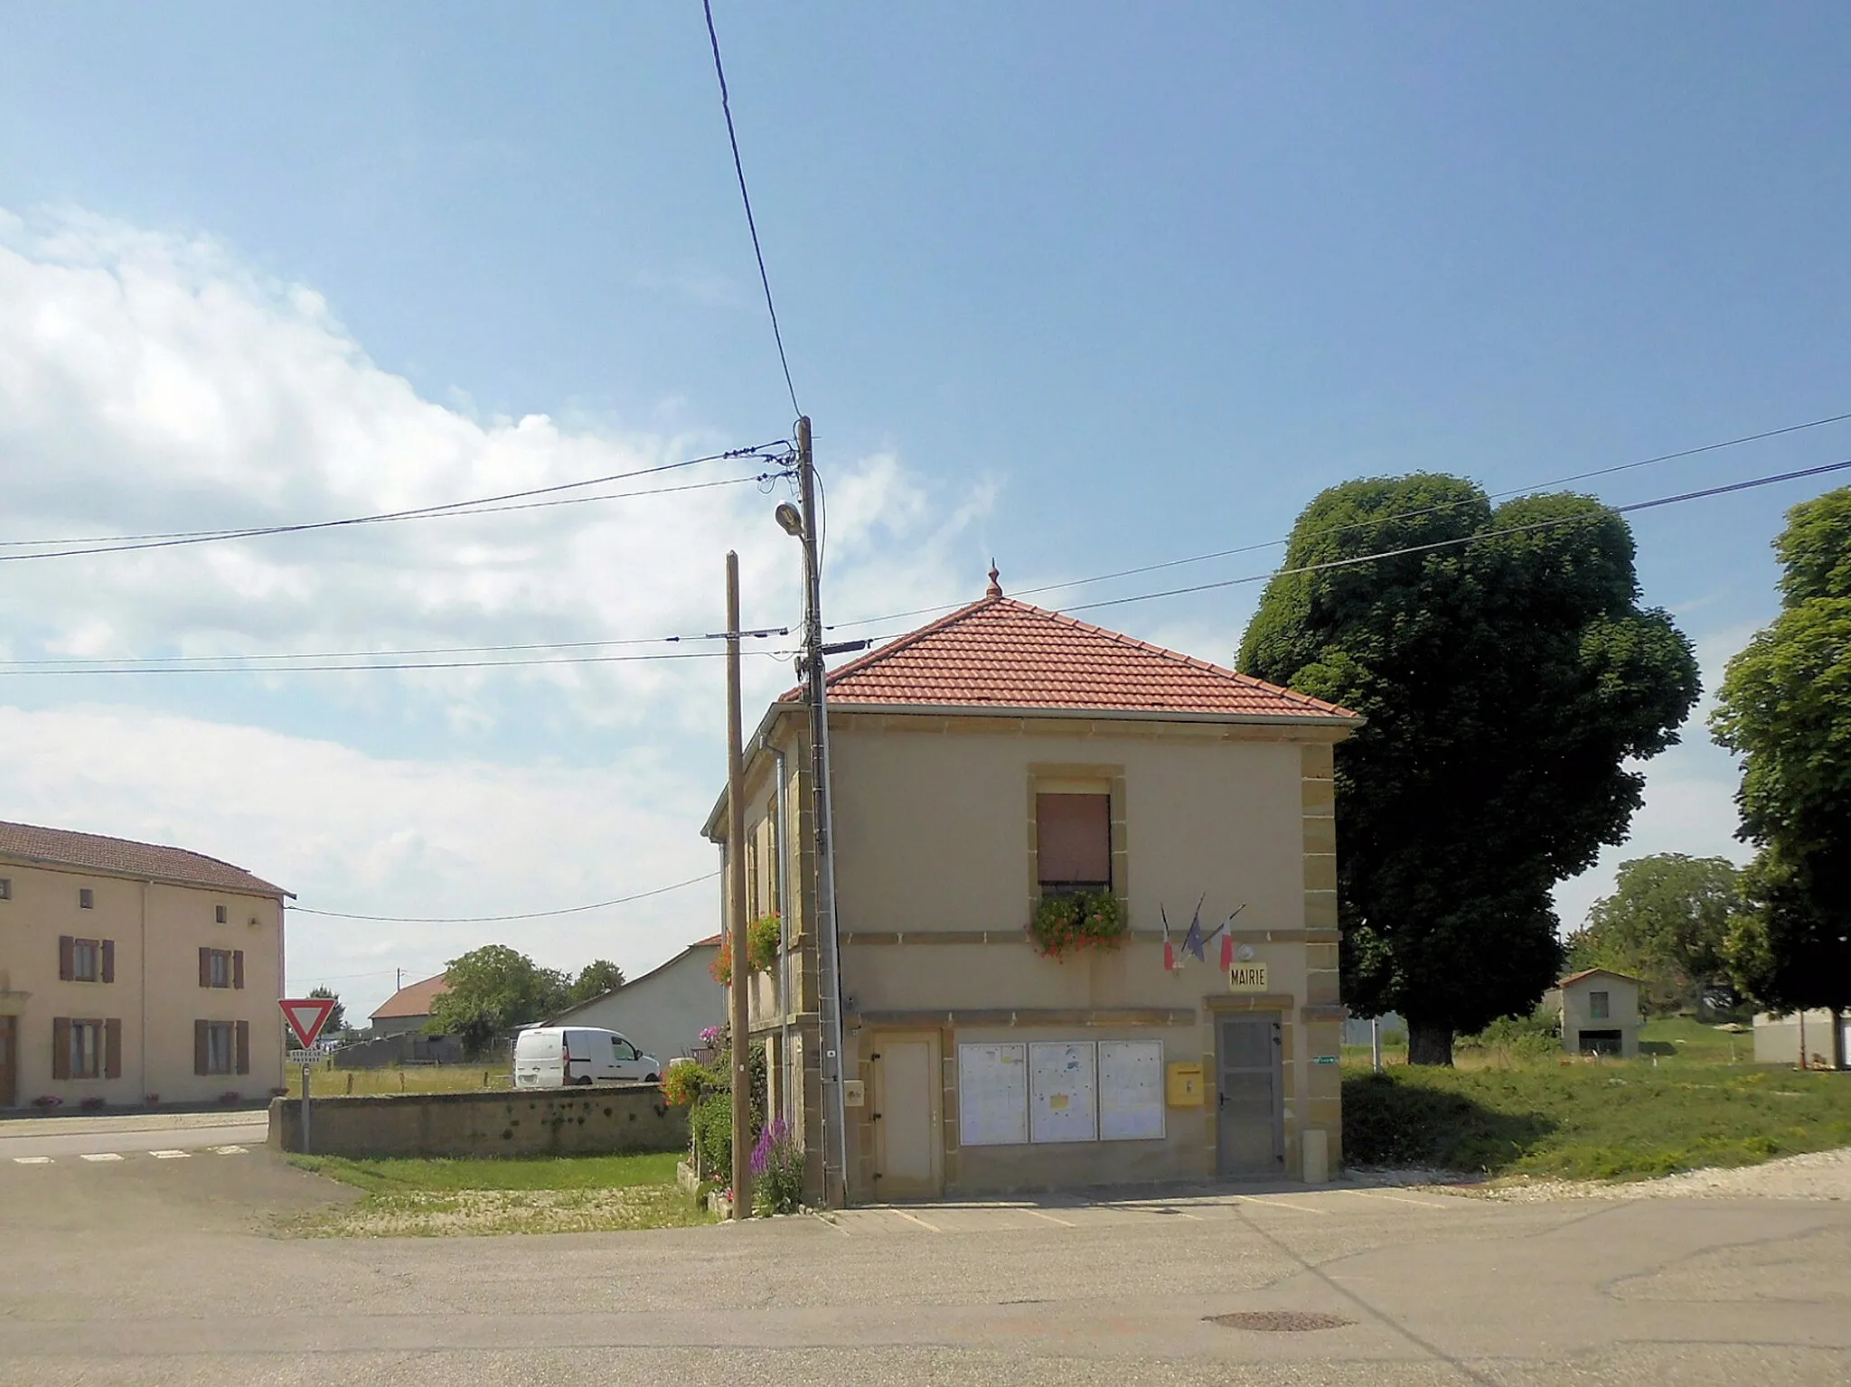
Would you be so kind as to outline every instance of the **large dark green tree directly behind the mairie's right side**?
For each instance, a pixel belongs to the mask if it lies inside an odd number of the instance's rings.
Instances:
[[[1529,1012],[1560,965],[1551,888],[1625,838],[1697,699],[1638,605],[1633,534],[1588,496],[1492,507],[1459,477],[1355,481],[1299,516],[1240,668],[1368,718],[1336,751],[1344,995],[1409,1060]],[[1298,571],[1294,571],[1298,570]]]

